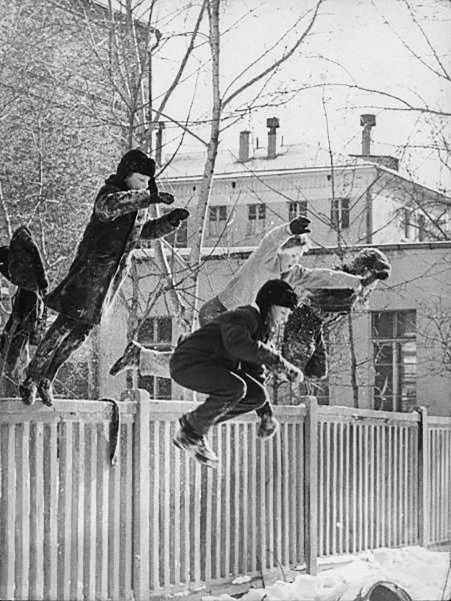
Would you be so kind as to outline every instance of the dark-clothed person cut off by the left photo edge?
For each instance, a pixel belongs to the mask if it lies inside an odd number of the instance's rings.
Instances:
[[[14,232],[10,245],[0,247],[0,273],[17,286],[0,336],[1,375],[11,384],[6,393],[16,394],[13,372],[27,345],[38,344],[43,334],[43,298],[49,286],[39,249],[25,225]]]

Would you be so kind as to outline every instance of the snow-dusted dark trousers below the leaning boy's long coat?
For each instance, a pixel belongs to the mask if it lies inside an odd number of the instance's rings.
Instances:
[[[91,329],[89,323],[59,315],[38,344],[26,376],[35,382],[44,378],[53,382],[61,365],[83,344]]]

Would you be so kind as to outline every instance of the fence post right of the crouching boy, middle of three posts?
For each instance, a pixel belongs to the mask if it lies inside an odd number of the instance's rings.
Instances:
[[[318,401],[306,397],[304,458],[304,557],[307,572],[317,574],[318,564]]]

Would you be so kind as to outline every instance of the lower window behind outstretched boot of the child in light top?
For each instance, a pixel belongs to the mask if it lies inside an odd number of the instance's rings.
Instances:
[[[140,323],[137,334],[139,343],[154,350],[171,350],[172,318],[147,317]],[[151,398],[170,400],[172,383],[167,377],[142,376],[138,371],[138,388],[148,391]]]

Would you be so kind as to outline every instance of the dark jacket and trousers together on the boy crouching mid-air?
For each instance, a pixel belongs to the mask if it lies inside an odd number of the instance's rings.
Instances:
[[[179,385],[209,397],[185,416],[199,436],[216,423],[257,410],[272,413],[264,365],[282,371],[284,358],[267,343],[269,331],[257,307],[227,311],[178,344],[170,374]]]

